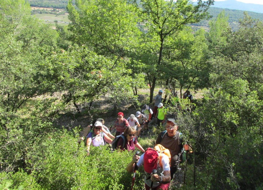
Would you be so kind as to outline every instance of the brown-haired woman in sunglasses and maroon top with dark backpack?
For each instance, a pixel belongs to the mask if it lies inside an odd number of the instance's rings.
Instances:
[[[143,147],[141,147],[141,145],[138,143],[138,141],[135,138],[136,129],[134,129],[133,127],[126,128],[124,133],[123,133],[123,136],[125,139],[124,146],[123,146],[123,138],[119,138],[118,142],[117,142],[118,149],[134,151],[134,149],[135,149],[134,146],[136,146],[140,151],[144,152]]]

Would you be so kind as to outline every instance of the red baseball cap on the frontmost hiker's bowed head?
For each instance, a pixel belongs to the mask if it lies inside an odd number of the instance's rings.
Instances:
[[[147,173],[151,173],[157,168],[159,154],[156,150],[148,148],[143,156],[143,168]]]

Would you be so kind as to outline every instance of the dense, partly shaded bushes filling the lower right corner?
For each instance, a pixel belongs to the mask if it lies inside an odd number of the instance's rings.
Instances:
[[[201,107],[178,120],[180,131],[196,152],[194,159],[199,169],[194,180],[198,188],[204,188],[204,181],[205,188],[211,189],[261,186],[258,174],[263,165],[258,160],[262,159],[262,102],[255,92],[248,92],[246,83],[235,82],[235,86],[244,86],[232,88],[231,94],[222,89],[211,90]],[[256,172],[251,172],[251,168]]]

